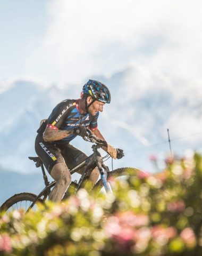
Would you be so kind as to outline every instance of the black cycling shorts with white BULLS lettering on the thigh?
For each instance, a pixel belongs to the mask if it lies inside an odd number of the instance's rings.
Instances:
[[[49,174],[51,174],[53,166],[57,163],[65,162],[71,170],[88,157],[81,150],[70,144],[58,146],[54,141],[46,142],[43,139],[43,135],[39,133],[35,140],[35,150]]]

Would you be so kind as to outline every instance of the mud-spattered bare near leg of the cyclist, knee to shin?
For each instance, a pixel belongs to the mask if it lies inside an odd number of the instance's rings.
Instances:
[[[51,177],[56,181],[55,187],[49,195],[53,202],[60,202],[62,197],[71,183],[71,174],[65,163],[57,163],[53,166]]]

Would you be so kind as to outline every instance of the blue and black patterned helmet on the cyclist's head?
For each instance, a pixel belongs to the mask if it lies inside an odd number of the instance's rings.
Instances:
[[[104,103],[110,103],[111,94],[107,86],[96,80],[89,80],[83,85],[82,90],[84,95],[90,96],[94,100],[98,100]]]

